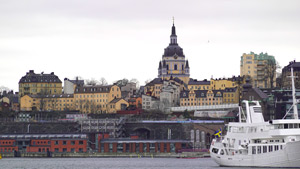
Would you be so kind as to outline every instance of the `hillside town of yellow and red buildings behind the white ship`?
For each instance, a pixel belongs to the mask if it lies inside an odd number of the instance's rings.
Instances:
[[[286,115],[291,67],[300,99],[300,62],[278,63],[275,57],[245,51],[233,60],[240,62],[235,76],[194,79],[173,23],[169,45],[153,65],[157,77],[143,86],[138,79],[107,84],[104,78],[60,77],[55,69],[28,70],[18,91],[0,89],[0,152],[53,157],[207,152],[215,131],[238,120],[242,100],[259,101],[265,120]]]

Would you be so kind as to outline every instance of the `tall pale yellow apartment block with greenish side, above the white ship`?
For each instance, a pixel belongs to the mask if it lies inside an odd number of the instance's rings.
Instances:
[[[253,52],[244,53],[241,56],[240,75],[251,77],[253,87],[271,88],[271,83],[274,87],[276,86],[276,60],[274,56],[267,53],[258,55]]]

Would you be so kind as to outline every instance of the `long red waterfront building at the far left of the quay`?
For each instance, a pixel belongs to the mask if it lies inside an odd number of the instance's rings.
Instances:
[[[0,152],[86,152],[86,134],[0,135]]]

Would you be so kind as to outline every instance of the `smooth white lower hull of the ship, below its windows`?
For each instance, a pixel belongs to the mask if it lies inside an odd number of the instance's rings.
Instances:
[[[226,167],[282,167],[300,168],[300,141],[289,142],[282,150],[254,155],[219,155],[211,153],[212,159]]]

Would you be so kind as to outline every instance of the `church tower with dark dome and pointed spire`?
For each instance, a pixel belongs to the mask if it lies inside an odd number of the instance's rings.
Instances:
[[[165,48],[162,56],[162,61],[158,66],[158,77],[169,80],[172,78],[179,78],[185,84],[190,78],[189,63],[185,60],[183,49],[177,43],[176,28],[173,21],[170,44]]]

